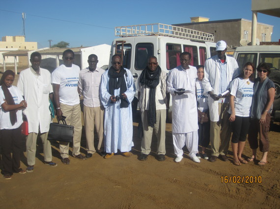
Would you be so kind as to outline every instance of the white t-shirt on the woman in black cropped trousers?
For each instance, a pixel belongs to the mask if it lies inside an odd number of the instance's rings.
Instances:
[[[249,117],[254,83],[249,79],[235,78],[231,83],[230,95],[234,98],[235,116]],[[229,107],[228,113],[231,114]]]

